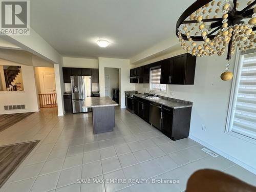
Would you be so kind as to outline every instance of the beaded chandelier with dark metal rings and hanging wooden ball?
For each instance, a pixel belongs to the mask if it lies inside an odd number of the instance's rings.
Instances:
[[[227,47],[228,61],[236,46],[241,51],[255,49],[255,4],[256,1],[248,1],[246,7],[238,10],[238,0],[196,1],[177,22],[176,35],[181,46],[187,53],[200,57],[222,55]],[[233,74],[228,70],[229,62],[222,80],[232,79]]]

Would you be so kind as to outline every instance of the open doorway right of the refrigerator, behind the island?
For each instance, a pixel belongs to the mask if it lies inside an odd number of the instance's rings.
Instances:
[[[119,68],[105,68],[105,96],[119,104]]]

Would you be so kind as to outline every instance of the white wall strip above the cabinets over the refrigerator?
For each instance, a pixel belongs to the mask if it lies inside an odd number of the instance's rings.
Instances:
[[[63,57],[63,67],[98,69],[98,59]]]

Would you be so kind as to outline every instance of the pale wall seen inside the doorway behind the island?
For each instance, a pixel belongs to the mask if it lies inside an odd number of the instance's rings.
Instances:
[[[119,69],[105,68],[105,75],[110,78],[110,97],[113,98],[113,89],[119,89]]]

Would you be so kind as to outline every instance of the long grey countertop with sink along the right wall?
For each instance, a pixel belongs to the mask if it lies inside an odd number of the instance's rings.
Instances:
[[[148,100],[148,101],[152,101],[152,102],[155,102],[155,103],[158,103],[158,104],[162,104],[164,106],[168,106],[169,108],[173,108],[173,109],[179,109],[179,108],[188,108],[190,106],[193,106],[193,103],[189,102],[189,101],[185,101],[185,102],[182,102],[181,100],[178,100],[178,99],[173,99],[173,98],[169,98],[169,99],[172,99],[172,100],[168,100],[168,99],[147,99],[145,96],[147,95],[144,95],[144,94],[133,94],[134,96],[136,97],[139,97],[139,98],[142,98],[142,99],[145,99],[145,100]]]

